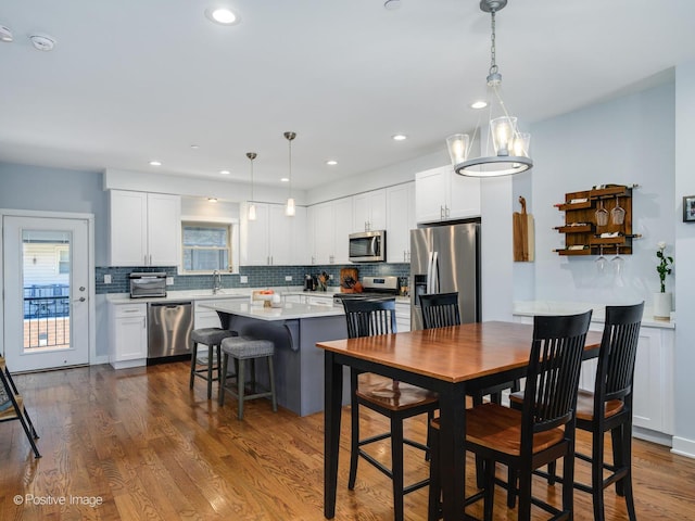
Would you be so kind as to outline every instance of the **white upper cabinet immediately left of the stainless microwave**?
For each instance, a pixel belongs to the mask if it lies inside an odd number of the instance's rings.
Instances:
[[[308,212],[311,264],[348,264],[348,236],[353,231],[353,198],[315,204]]]

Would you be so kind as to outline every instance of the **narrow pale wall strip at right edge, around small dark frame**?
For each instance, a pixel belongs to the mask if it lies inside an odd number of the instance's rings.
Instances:
[[[675,71],[675,193],[670,216],[675,228],[675,436],[673,450],[695,455],[695,224],[682,221],[684,195],[695,195],[695,61]]]

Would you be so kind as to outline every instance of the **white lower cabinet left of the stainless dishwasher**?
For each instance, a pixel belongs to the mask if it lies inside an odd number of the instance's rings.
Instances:
[[[109,329],[109,363],[114,369],[147,365],[147,304],[111,304]]]

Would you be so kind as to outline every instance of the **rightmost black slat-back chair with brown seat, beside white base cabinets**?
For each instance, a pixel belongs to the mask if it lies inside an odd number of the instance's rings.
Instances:
[[[574,483],[574,488],[593,497],[594,519],[603,521],[604,490],[616,484],[616,492],[624,496],[630,521],[635,521],[632,494],[632,384],[634,364],[640,342],[640,327],[644,302],[632,306],[606,306],[594,392],[579,391],[577,399],[577,429],[592,433],[592,454],[576,453],[576,457],[592,466],[591,485]],[[513,395],[518,406],[523,396]],[[605,433],[612,441],[612,463],[605,461]],[[608,475],[604,471],[608,471]],[[555,465],[547,474],[553,484]]]

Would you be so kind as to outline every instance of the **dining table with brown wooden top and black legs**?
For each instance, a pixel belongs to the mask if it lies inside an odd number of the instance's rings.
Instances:
[[[325,350],[324,516],[336,516],[343,367],[383,374],[439,393],[444,520],[464,513],[466,394],[526,374],[533,326],[489,321],[407,333],[319,342]],[[584,358],[601,333],[586,335]]]

